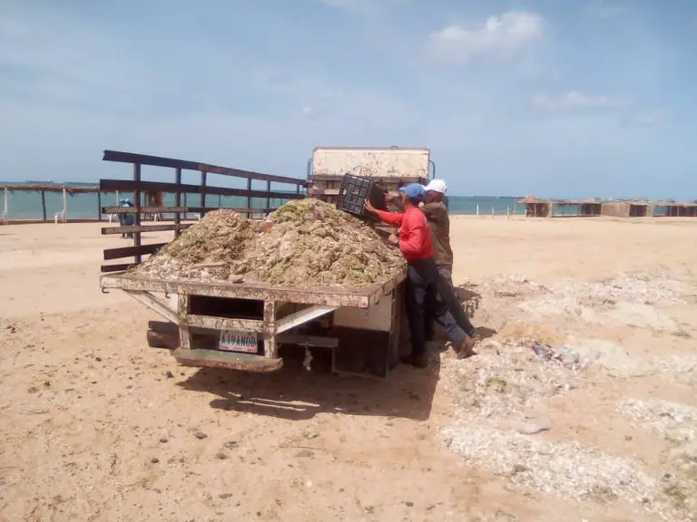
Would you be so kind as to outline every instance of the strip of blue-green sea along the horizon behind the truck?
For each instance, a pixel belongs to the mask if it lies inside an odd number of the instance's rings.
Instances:
[[[17,184],[16,182],[7,184]],[[5,185],[0,181],[0,187]],[[93,186],[87,183],[61,183],[63,186],[87,187]],[[131,198],[133,194],[122,192],[118,196],[115,193],[101,195],[102,206],[117,206],[119,198]],[[197,194],[187,195],[187,205],[190,207],[200,206],[200,196]],[[46,192],[46,218],[53,220],[55,214],[63,209],[63,194]],[[489,196],[449,196],[448,209],[453,215],[480,215],[490,216],[492,211],[495,215],[516,215],[525,214],[522,205],[515,204],[515,197],[489,197]],[[271,208],[280,206],[284,200],[271,199]],[[175,199],[173,194],[164,195],[164,206],[173,207]],[[208,196],[206,206],[223,208],[247,208],[247,199],[240,197],[219,197]],[[183,207],[183,195],[182,195]],[[266,208],[266,198],[252,198],[252,208]],[[4,213],[3,194],[0,189],[0,218]],[[67,197],[67,218],[69,219],[97,219],[100,218],[101,209],[96,193],[76,194]],[[166,218],[167,216],[165,216]],[[191,216],[193,217],[193,216]],[[41,194],[39,192],[9,192],[7,195],[7,218],[8,219],[42,219],[43,211],[41,207]]]

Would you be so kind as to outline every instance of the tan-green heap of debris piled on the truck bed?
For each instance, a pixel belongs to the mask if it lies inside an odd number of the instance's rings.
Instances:
[[[290,201],[256,224],[214,210],[136,268],[148,277],[274,285],[371,285],[405,266],[367,224],[319,199]]]

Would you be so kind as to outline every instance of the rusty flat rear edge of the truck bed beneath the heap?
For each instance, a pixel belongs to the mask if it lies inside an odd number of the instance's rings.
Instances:
[[[406,278],[406,270],[385,281],[368,286],[308,285],[289,287],[267,283],[230,283],[223,281],[201,282],[185,279],[155,279],[137,274],[102,275],[103,289],[117,288],[179,295],[206,295],[235,299],[256,299],[280,303],[319,304],[324,306],[347,306],[369,308],[384,295],[390,295]]]

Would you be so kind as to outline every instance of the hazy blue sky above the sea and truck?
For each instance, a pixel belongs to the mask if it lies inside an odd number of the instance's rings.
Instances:
[[[0,179],[402,145],[452,194],[697,198],[695,63],[691,0],[0,0]]]

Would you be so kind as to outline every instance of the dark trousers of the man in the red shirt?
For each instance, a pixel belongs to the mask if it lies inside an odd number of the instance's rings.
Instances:
[[[425,324],[435,319],[456,347],[466,340],[466,333],[447,309],[447,304],[438,299],[438,269],[433,259],[410,261],[407,265],[407,318],[411,331],[411,354],[426,353]]]

